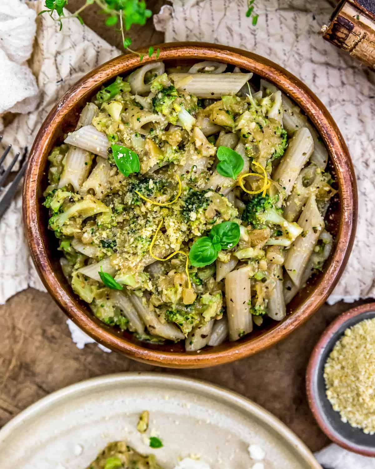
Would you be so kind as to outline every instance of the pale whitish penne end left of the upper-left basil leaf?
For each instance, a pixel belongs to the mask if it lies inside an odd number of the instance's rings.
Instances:
[[[108,158],[110,143],[103,132],[99,132],[93,125],[86,125],[70,133],[64,140],[66,144],[90,151],[103,158]]]

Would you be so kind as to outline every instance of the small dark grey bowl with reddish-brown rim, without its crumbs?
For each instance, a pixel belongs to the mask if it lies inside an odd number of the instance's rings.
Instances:
[[[375,318],[375,303],[364,304],[341,314],[327,327],[311,354],[306,372],[308,403],[315,419],[329,439],[343,448],[364,456],[375,456],[375,435],[366,435],[341,420],[326,395],[324,365],[345,329],[364,319]]]

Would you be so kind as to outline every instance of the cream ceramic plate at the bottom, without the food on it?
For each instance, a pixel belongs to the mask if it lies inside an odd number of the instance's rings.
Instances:
[[[136,431],[150,411],[147,437]],[[211,469],[250,469],[248,446],[266,451],[265,469],[321,469],[308,448],[278,419],[238,394],[159,373],[94,378],[52,393],[0,431],[1,469],[84,469],[109,441],[127,440],[172,469],[200,455]]]

